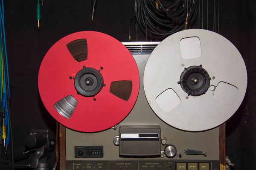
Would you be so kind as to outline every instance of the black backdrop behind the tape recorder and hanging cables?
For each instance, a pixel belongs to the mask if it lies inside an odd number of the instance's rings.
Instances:
[[[256,16],[253,12],[256,4],[253,1],[220,0],[219,2],[219,34],[236,45],[250,71],[255,70],[256,54],[253,46]],[[209,0],[210,27],[213,23],[213,2],[214,0]],[[93,23],[90,21],[91,0],[44,0],[44,7],[41,8],[41,29],[38,31],[36,5],[37,0],[5,0],[14,148],[24,146],[25,136],[31,129],[49,129],[55,133],[56,122],[41,102],[37,82],[41,61],[49,48],[68,34],[86,30],[100,31],[119,41],[128,41],[129,23],[134,16],[133,0],[98,0]],[[206,26],[205,10],[204,8]],[[134,25],[131,28],[131,39],[135,40]],[[139,40],[145,41],[145,36],[140,30]],[[255,74],[249,75],[248,82],[252,87],[250,94],[255,94],[253,90],[255,82],[252,77],[256,77]],[[248,105],[249,108],[256,101],[250,94],[244,100],[244,105],[251,103]],[[255,113],[255,108],[250,108],[250,111]],[[227,155],[235,164],[233,168],[235,170],[255,169],[255,147],[252,148],[255,141],[253,137],[255,117],[253,114],[251,117],[248,115],[250,114],[248,112],[246,114],[241,108],[227,122]],[[1,158],[5,159],[5,157],[2,148]],[[19,163],[29,163],[29,161],[28,159]],[[54,164],[55,152],[52,153],[49,162]]]

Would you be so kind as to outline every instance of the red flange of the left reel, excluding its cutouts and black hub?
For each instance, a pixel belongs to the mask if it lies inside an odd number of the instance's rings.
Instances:
[[[81,62],[67,48],[68,43],[78,39],[87,40],[87,59]],[[94,97],[79,95],[74,86],[73,77],[83,66],[97,70],[103,67],[100,73],[105,87]],[[132,82],[127,101],[110,92],[111,82],[124,80]],[[56,42],[45,55],[38,74],[39,93],[47,111],[62,125],[81,132],[98,132],[121,122],[134,107],[139,87],[137,64],[128,49],[113,37],[95,31],[76,32]],[[67,119],[54,105],[69,95],[77,105]]]

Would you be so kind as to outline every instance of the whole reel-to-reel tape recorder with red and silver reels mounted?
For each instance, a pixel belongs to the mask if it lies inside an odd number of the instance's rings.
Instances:
[[[41,99],[66,127],[66,169],[219,170],[219,125],[239,108],[247,71],[212,31],[119,42],[95,31],[52,46]]]

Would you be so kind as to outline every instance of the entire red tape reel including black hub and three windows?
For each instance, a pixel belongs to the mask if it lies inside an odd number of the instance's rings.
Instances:
[[[96,31],[70,34],[56,42],[41,62],[39,93],[62,125],[99,132],[121,122],[140,88],[137,64],[115,38]]]

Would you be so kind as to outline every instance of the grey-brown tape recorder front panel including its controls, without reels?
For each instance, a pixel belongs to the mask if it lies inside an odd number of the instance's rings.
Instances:
[[[157,43],[147,42],[146,45],[153,48]],[[128,48],[143,46],[145,42],[123,44]],[[177,170],[186,170],[186,167],[188,170],[211,170],[211,167],[218,170],[219,128],[187,132],[171,127],[157,117],[148,105],[143,89],[143,74],[150,52],[132,54],[140,73],[140,91],[134,108],[122,122],[108,130],[81,133],[66,128],[67,169],[131,169],[133,164],[134,170],[157,169],[155,166],[158,169],[169,167],[170,170],[172,167]],[[90,121],[97,119],[84,120],[84,124]],[[196,167],[198,169],[191,169]]]

